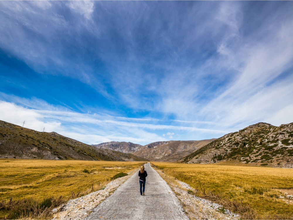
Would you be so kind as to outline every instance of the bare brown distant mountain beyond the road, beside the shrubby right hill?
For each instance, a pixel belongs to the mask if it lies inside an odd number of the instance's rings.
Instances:
[[[159,141],[144,145],[133,154],[150,161],[177,161],[212,142],[215,139],[202,141]]]

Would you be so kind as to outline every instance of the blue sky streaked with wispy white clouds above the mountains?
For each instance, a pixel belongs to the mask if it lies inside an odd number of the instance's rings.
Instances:
[[[293,122],[292,1],[0,1],[0,120],[88,144]]]

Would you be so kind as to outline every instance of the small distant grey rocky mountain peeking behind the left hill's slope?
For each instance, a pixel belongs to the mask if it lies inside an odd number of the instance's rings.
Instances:
[[[118,141],[110,141],[100,144],[93,144],[92,146],[96,148],[104,148],[110,150],[120,151],[122,153],[133,153],[134,151],[142,148],[142,145],[134,144],[131,142],[118,142]]]

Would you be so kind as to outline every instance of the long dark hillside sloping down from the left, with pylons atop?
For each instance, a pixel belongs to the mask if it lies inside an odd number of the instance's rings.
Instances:
[[[132,154],[95,148],[55,132],[38,132],[5,121],[0,121],[0,158],[144,161]]]

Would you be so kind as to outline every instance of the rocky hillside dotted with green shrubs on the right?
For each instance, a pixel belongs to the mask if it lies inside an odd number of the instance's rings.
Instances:
[[[214,140],[180,162],[207,164],[229,160],[293,167],[293,123],[276,127],[260,122],[248,126]]]

